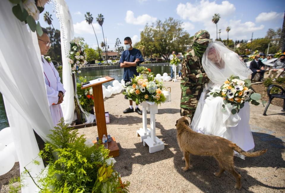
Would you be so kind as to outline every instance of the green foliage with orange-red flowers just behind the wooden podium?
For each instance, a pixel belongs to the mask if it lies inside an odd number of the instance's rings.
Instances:
[[[94,107],[94,96],[93,90],[91,87],[81,89],[81,83],[87,82],[87,80],[80,76],[79,82],[77,82],[77,95],[80,102],[80,105],[83,109],[87,112],[94,114],[93,107]]]

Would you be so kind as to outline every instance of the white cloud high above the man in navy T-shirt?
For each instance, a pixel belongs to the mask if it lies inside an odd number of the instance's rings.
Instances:
[[[126,23],[134,24],[134,25],[145,25],[146,23],[152,23],[156,21],[156,17],[151,17],[148,14],[143,14],[137,16],[137,18],[134,17],[134,12],[128,10],[126,13],[125,18]]]

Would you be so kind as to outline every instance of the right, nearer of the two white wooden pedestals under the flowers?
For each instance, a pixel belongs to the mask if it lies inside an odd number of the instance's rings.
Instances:
[[[158,113],[158,108],[154,102],[145,101],[145,103],[147,103],[148,111],[151,114],[151,136],[147,136],[147,138],[143,140],[143,146],[145,146],[146,143],[149,147],[149,152],[154,153],[164,149],[164,143],[155,136],[155,114]]]

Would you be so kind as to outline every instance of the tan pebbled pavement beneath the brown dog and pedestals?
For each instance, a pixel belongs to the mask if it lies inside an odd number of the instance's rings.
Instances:
[[[219,167],[212,157],[190,155],[192,168],[184,172],[182,153],[176,140],[175,122],[180,117],[180,82],[166,82],[171,87],[172,101],[159,106],[156,114],[157,137],[165,143],[165,149],[153,154],[143,146],[136,130],[142,127],[142,116],[123,114],[129,106],[124,95],[118,94],[105,100],[105,111],[110,112],[108,134],[114,136],[120,148],[115,169],[122,180],[130,181],[130,192],[239,192],[234,189],[234,177],[225,172],[221,178],[213,173]],[[106,99],[106,98],[105,98]],[[268,149],[259,157],[235,157],[236,170],[242,176],[240,192],[285,191],[285,113],[281,107],[270,105],[268,116],[262,116],[262,105],[251,105],[250,125],[255,149]],[[148,123],[150,122],[148,114]],[[149,126],[148,126],[149,127]],[[95,139],[97,127],[79,130],[88,139]]]

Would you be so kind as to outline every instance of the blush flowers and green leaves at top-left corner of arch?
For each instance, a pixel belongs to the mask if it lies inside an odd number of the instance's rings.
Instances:
[[[42,27],[39,24],[39,14],[42,13],[45,9],[45,4],[50,0],[9,0],[12,4],[16,4],[12,8],[12,12],[15,17],[20,21],[27,23],[31,31],[42,36]]]

